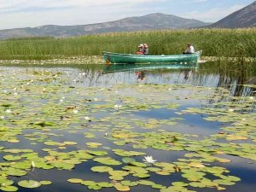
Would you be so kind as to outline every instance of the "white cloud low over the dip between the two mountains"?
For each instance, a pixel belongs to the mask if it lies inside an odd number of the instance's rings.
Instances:
[[[187,14],[181,15],[184,18],[203,20],[208,22],[216,22],[223,19],[224,17],[234,13],[235,11],[244,8],[245,5],[236,4],[228,9],[226,8],[214,8],[204,12],[193,11]]]

